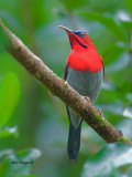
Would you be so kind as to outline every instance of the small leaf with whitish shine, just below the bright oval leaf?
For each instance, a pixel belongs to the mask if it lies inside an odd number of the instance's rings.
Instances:
[[[2,137],[8,137],[8,136],[18,136],[18,127],[16,126],[13,126],[13,127],[3,127],[0,129],[0,138]]]

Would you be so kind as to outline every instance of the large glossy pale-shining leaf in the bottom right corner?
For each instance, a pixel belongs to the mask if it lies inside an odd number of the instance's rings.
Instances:
[[[112,169],[132,165],[132,147],[123,143],[106,145],[89,158],[84,166],[81,177],[112,176]]]

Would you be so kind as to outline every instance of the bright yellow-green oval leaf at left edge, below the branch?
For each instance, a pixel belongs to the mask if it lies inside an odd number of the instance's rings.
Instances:
[[[9,72],[0,82],[0,126],[11,118],[20,98],[20,82],[18,76]]]

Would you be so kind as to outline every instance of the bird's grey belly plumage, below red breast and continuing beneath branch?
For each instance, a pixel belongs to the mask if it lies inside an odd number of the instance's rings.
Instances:
[[[103,69],[97,73],[90,73],[88,71],[87,72],[74,71],[73,69],[68,67],[68,74],[66,81],[80,95],[88,96],[91,103],[94,103],[98,97],[101,87],[102,76],[103,76]],[[70,107],[68,110],[69,110],[70,121],[74,127],[76,128],[80,124],[81,118],[77,116]]]

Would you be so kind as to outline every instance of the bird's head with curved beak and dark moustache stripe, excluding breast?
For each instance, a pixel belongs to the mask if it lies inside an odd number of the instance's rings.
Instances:
[[[85,50],[88,49],[88,46],[95,46],[86,32],[72,31],[63,25],[58,25],[58,28],[62,28],[67,32],[72,50]]]

